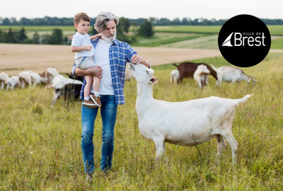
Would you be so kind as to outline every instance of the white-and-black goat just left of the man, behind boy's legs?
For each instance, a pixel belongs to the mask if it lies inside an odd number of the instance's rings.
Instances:
[[[74,79],[67,79],[64,76],[60,75],[59,76],[55,76],[53,81],[52,81],[52,85],[50,86],[46,86],[45,88],[53,88],[54,90],[54,96],[51,100],[51,107],[54,108],[54,104],[56,102],[56,100],[63,94],[64,98],[67,98],[67,96],[70,93],[73,93],[73,91],[76,88],[76,92],[81,91],[81,86],[82,86],[82,82],[78,81],[78,80],[74,80]],[[79,85],[79,88],[76,87],[76,85]],[[79,93],[77,93],[79,94]]]

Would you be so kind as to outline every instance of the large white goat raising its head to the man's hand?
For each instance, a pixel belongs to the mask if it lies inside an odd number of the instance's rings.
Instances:
[[[166,102],[152,96],[153,84],[158,81],[154,71],[142,64],[131,64],[129,69],[137,80],[136,110],[141,134],[154,141],[156,160],[164,154],[165,143],[193,146],[216,138],[218,152],[226,146],[232,149],[232,163],[236,162],[238,143],[232,134],[236,105],[241,99],[209,97],[184,102]]]

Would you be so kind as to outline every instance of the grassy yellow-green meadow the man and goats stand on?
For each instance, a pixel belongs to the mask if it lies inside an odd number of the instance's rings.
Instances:
[[[196,60],[216,67],[215,57]],[[195,81],[170,84],[173,65],[154,66],[159,79],[154,98],[183,101],[207,96],[241,98],[233,134],[239,143],[238,164],[231,167],[231,149],[217,163],[216,140],[198,146],[166,144],[166,157],[154,162],[154,143],[141,137],[134,109],[136,82],[126,81],[126,104],[118,107],[112,171],[96,170],[85,181],[81,156],[79,101],[58,100],[50,108],[52,90],[44,86],[0,91],[0,190],[282,190],[283,187],[283,54],[270,53],[257,66],[243,69],[258,83],[209,85]],[[95,163],[100,163],[101,118],[94,133]]]

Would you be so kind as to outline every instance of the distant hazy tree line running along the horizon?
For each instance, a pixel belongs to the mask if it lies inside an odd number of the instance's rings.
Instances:
[[[45,16],[44,18],[20,18],[17,20],[16,18],[1,18],[0,17],[0,25],[74,25],[74,18],[57,18],[57,17],[49,17]],[[223,25],[227,19],[219,19],[215,18],[207,19],[207,18],[173,18],[172,20],[168,18],[137,18],[131,19],[127,18],[129,22],[132,24],[137,23],[137,25],[141,25],[144,20],[149,20],[154,25]],[[267,19],[261,18],[261,20],[266,25],[283,25],[282,19]],[[91,18],[91,25],[96,22],[96,18]]]

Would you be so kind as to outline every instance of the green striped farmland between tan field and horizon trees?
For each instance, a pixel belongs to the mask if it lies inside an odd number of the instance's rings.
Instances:
[[[0,30],[8,30],[10,26],[1,26]],[[12,30],[21,30],[22,26],[11,26]],[[75,33],[73,26],[25,26],[26,35],[33,37],[35,31],[39,35],[51,35],[54,28],[60,28],[64,36],[71,36]],[[272,35],[272,49],[283,49],[283,25],[267,25]],[[137,37],[137,42],[131,45],[135,47],[175,47],[175,48],[200,48],[218,49],[218,33],[220,25],[169,25],[155,26],[156,34],[150,38]],[[133,32],[134,29],[130,28]]]

